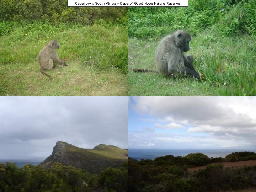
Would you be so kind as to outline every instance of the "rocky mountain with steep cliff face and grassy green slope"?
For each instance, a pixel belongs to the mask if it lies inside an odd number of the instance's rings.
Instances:
[[[55,162],[70,165],[98,174],[107,167],[118,168],[128,160],[128,150],[113,145],[100,144],[94,149],[82,149],[74,145],[58,141],[53,147],[52,155],[39,165],[50,168]]]

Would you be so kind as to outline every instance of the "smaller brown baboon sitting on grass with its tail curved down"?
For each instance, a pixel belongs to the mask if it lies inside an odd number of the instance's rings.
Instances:
[[[43,75],[48,76],[48,78],[52,79],[52,76],[44,73],[43,70],[51,70],[53,68],[53,62],[57,62],[61,64],[60,66],[68,66],[64,61],[59,59],[58,53],[55,49],[60,47],[57,40],[50,41],[40,52],[38,55],[39,69]]]

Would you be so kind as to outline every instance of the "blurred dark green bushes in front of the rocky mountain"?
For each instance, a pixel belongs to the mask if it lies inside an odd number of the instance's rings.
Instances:
[[[55,163],[51,169],[44,169],[32,165],[17,168],[15,164],[7,162],[0,164],[0,191],[85,192],[92,189],[119,191],[119,188],[126,191],[127,169],[126,162],[119,169],[106,169],[98,176],[60,163]]]

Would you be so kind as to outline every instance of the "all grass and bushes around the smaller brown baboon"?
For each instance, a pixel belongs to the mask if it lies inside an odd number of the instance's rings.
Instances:
[[[127,95],[127,8],[67,7],[66,0],[0,5],[0,95]],[[69,66],[39,72],[51,39]]]

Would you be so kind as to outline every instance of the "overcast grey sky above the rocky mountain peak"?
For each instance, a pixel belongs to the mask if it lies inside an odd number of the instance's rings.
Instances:
[[[128,148],[128,97],[0,97],[0,159],[44,160],[60,140]]]

